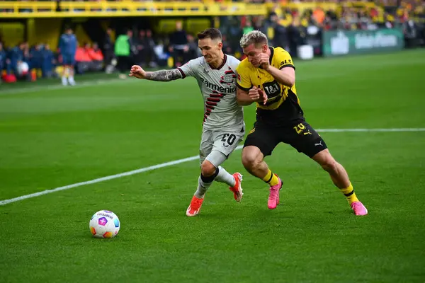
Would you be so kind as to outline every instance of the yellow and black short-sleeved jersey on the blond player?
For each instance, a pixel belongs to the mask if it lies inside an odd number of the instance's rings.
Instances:
[[[295,69],[287,51],[280,47],[269,48],[271,66],[277,69]],[[295,121],[304,120],[295,84],[292,87],[284,86],[267,71],[254,67],[247,58],[242,60],[236,70],[238,88],[249,91],[252,86],[256,86],[268,97],[266,105],[257,103],[257,120],[273,125],[290,125]]]

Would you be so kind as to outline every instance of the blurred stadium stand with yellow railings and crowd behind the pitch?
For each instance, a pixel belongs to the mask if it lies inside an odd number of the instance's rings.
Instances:
[[[72,18],[69,18],[72,17]],[[129,62],[177,66],[198,56],[194,35],[215,26],[225,52],[242,57],[239,38],[261,30],[272,44],[297,57],[309,45],[324,52],[333,30],[397,29],[405,47],[424,46],[424,1],[0,1],[0,73],[4,81],[57,76],[59,37],[71,27],[79,41],[78,74],[116,69],[114,42],[132,30]],[[96,42],[99,42],[97,44]],[[92,47],[91,47],[92,46]],[[52,48],[50,48],[52,47]],[[21,68],[23,63],[28,65]]]

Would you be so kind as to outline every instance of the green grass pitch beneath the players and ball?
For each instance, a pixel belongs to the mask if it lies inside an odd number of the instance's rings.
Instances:
[[[425,128],[424,50],[295,64],[316,129]],[[198,154],[194,79],[98,79],[0,86],[0,200]],[[285,144],[266,158],[285,183],[268,210],[238,150],[224,166],[244,199],[214,183],[193,218],[198,161],[0,206],[0,282],[425,282],[425,132],[321,135],[368,216]],[[116,238],[91,237],[101,209],[120,217]]]

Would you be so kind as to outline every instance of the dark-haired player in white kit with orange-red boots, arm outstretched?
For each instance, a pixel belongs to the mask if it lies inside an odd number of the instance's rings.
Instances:
[[[227,173],[221,164],[236,149],[245,134],[244,112],[236,100],[235,70],[239,60],[222,52],[222,35],[216,28],[198,33],[198,47],[203,57],[189,61],[172,70],[145,71],[132,66],[129,76],[151,81],[173,81],[193,76],[204,100],[203,133],[200,141],[200,176],[198,188],[186,210],[187,216],[196,216],[205,192],[214,180],[226,183],[234,200],[242,200],[242,175]]]

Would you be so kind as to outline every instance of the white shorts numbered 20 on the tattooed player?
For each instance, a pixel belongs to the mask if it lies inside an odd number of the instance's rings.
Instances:
[[[199,158],[200,164],[203,163],[205,158],[212,151],[219,151],[225,155],[225,158],[229,158],[229,155],[232,154],[232,151],[236,149],[238,144],[244,139],[244,130],[235,130],[231,131],[211,131],[208,129],[203,129],[202,137],[200,139],[200,147],[199,147]],[[212,159],[212,160],[210,160]],[[220,166],[220,164],[224,160],[213,160],[214,158],[208,158],[208,161],[212,163],[215,167]]]

